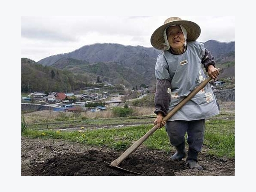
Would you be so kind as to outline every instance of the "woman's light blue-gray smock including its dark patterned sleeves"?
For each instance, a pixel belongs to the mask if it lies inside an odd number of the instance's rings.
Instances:
[[[189,41],[186,51],[174,55],[164,50],[157,57],[155,76],[157,79],[154,113],[164,116],[192,92],[207,77],[202,66],[207,71],[211,64],[215,66],[211,53],[198,41]],[[218,102],[209,83],[189,100],[169,121],[198,120],[217,115]]]

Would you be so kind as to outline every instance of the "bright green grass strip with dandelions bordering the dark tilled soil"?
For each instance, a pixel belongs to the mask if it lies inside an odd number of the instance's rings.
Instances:
[[[106,128],[80,131],[57,131],[54,129],[27,128],[23,136],[45,139],[63,139],[84,145],[106,147],[116,151],[125,151],[135,141],[139,140],[152,128],[150,125],[138,125],[125,128]],[[144,146],[169,152],[174,148],[169,144],[165,128],[155,131],[145,142]],[[235,157],[235,120],[207,120],[204,139],[204,149],[209,155],[216,157]]]

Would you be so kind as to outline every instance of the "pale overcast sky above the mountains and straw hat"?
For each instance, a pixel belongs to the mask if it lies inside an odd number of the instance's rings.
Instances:
[[[39,61],[84,45],[116,43],[152,47],[155,29],[172,16],[22,16],[21,58]],[[200,42],[235,41],[235,16],[179,16],[201,27]]]

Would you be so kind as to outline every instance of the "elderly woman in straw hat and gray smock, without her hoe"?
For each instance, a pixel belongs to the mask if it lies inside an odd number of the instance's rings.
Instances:
[[[218,102],[209,83],[189,102],[177,111],[167,122],[163,117],[195,89],[206,76],[202,66],[212,79],[219,71],[211,53],[196,39],[200,27],[191,21],[178,17],[168,18],[151,36],[151,44],[163,50],[157,57],[155,76],[154,125],[165,125],[170,143],[176,152],[170,160],[186,157],[185,134],[187,133],[188,152],[186,165],[192,169],[203,169],[198,164],[198,153],[204,142],[205,118],[219,113]]]

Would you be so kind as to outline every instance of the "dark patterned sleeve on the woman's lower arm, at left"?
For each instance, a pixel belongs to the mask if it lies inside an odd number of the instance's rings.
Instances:
[[[161,112],[163,116],[167,115],[169,102],[171,101],[171,95],[168,93],[168,88],[171,89],[170,79],[157,80],[154,98],[155,114]]]

